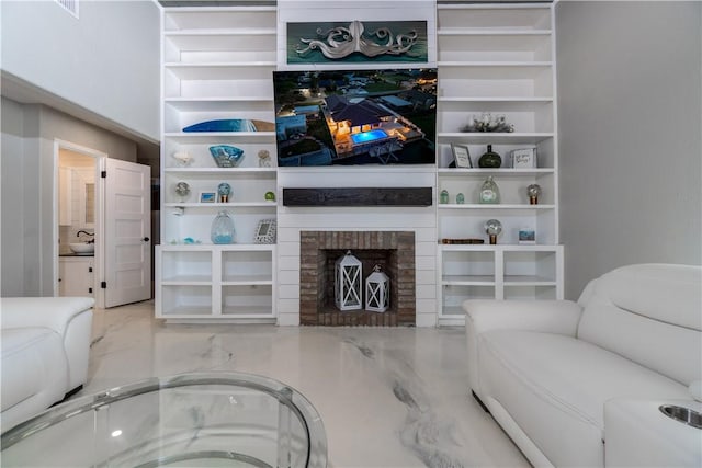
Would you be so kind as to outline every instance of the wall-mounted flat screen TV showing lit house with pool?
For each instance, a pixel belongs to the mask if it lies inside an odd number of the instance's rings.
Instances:
[[[437,69],[274,71],[279,167],[433,164]]]

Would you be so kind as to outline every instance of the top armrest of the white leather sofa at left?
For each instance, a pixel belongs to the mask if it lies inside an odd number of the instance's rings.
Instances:
[[[0,326],[7,328],[45,327],[61,336],[79,315],[91,311],[91,297],[3,297],[0,299]]]

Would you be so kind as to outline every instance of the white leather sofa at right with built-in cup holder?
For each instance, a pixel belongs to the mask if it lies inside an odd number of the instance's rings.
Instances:
[[[702,269],[639,264],[568,300],[466,300],[469,386],[534,466],[702,466]],[[635,449],[634,449],[635,447]]]

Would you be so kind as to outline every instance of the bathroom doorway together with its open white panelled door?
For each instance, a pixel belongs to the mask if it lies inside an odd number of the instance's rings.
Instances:
[[[54,160],[54,295],[150,299],[150,168],[61,140]]]

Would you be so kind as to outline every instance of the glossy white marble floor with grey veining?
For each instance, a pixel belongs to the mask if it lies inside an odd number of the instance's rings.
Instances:
[[[462,328],[166,324],[151,301],[95,310],[83,396],[152,376],[281,380],[320,413],[329,466],[529,467],[469,396]]]

